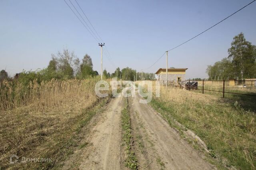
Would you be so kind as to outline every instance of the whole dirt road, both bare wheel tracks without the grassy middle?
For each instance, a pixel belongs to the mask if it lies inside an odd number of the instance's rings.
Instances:
[[[214,169],[152,107],[140,104],[139,99],[138,94],[128,98],[131,149],[138,159],[138,169]],[[121,111],[126,101],[124,97],[112,98],[98,120],[92,122],[85,137],[90,145],[78,151],[78,169],[125,168]]]

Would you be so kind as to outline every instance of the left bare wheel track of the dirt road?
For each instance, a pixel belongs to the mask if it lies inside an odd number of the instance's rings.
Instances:
[[[121,168],[121,110],[122,97],[112,98],[106,110],[101,113],[100,121],[87,137],[91,145],[86,147],[81,155],[79,169]]]

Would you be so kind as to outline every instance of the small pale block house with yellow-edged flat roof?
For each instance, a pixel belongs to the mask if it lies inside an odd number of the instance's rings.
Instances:
[[[168,68],[167,81],[180,83],[182,80],[185,80],[187,69],[188,68]],[[161,84],[166,83],[166,68],[159,68],[155,74],[156,79],[160,81]]]

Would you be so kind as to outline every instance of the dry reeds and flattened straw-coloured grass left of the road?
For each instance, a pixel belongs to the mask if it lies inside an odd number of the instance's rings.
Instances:
[[[0,166],[8,167],[9,156],[30,158],[51,156],[81,117],[82,110],[98,100],[97,79],[36,80],[29,86],[0,84]],[[54,159],[54,158],[51,158]],[[37,167],[28,164],[20,166]]]

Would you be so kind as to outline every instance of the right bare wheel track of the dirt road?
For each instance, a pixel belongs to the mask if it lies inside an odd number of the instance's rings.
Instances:
[[[142,169],[214,169],[152,107],[140,104],[138,94],[128,100]]]

